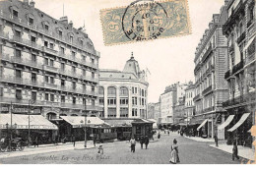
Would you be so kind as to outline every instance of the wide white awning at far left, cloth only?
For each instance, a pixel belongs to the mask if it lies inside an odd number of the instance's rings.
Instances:
[[[11,114],[0,114],[0,129],[11,128]],[[15,127],[15,125],[17,125]],[[13,129],[29,129],[29,115],[12,114]],[[30,129],[58,130],[58,127],[41,115],[30,115]]]

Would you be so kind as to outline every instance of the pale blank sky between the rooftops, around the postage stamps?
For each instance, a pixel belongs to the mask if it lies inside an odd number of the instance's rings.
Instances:
[[[224,0],[188,0],[192,33],[185,36],[157,39],[122,45],[105,46],[99,20],[99,10],[128,6],[134,0],[34,0],[35,8],[55,19],[68,16],[75,28],[84,26],[100,52],[99,69],[122,71],[133,52],[141,70],[148,70],[148,102],[158,102],[165,86],[180,82],[195,82],[195,50]],[[64,10],[63,10],[64,6]]]

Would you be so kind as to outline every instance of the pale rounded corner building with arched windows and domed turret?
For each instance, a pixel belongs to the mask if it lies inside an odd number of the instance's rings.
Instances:
[[[99,71],[99,107],[102,118],[147,119],[148,86],[146,74],[132,57],[123,71]]]

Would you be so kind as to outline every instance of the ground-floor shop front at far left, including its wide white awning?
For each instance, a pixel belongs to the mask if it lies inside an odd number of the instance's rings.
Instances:
[[[0,138],[22,138],[40,143],[53,142],[58,127],[41,115],[0,114]]]

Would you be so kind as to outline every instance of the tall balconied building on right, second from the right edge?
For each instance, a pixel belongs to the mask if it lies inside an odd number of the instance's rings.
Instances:
[[[227,70],[227,40],[223,34],[226,20],[226,5],[220,14],[214,14],[209,28],[205,30],[195,52],[195,119],[194,123],[206,124],[200,134],[213,138],[218,133],[220,139],[224,132],[217,132],[217,121],[224,115],[223,102],[227,99],[227,84],[224,73]],[[224,118],[223,118],[224,119]]]

